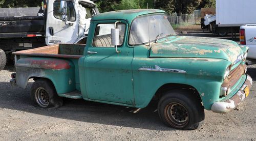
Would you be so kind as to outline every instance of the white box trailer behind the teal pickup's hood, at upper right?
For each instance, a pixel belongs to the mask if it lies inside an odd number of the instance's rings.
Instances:
[[[256,0],[216,0],[216,20],[205,25],[204,17],[201,28],[214,34],[225,36],[232,33],[236,37],[240,26],[256,23]]]

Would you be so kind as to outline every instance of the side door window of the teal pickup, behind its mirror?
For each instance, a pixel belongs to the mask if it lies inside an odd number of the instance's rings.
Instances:
[[[123,44],[125,24],[118,23],[120,45]],[[98,24],[95,30],[93,47],[114,47],[111,44],[111,29],[115,29],[114,23]]]

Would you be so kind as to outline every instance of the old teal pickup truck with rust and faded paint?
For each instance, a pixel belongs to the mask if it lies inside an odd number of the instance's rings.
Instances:
[[[158,100],[160,119],[196,129],[204,109],[226,113],[249,94],[248,47],[222,39],[175,34],[161,10],[101,13],[86,45],[57,44],[17,51],[10,82],[43,108],[62,97],[144,108]],[[145,117],[146,118],[146,117]]]

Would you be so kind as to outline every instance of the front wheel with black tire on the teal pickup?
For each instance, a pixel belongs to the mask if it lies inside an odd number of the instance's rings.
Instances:
[[[163,123],[176,129],[197,129],[204,120],[204,108],[193,95],[185,90],[165,93],[158,102],[158,114]]]

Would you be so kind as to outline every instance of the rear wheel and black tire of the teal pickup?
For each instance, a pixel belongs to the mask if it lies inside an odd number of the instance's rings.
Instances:
[[[31,87],[31,100],[41,108],[54,109],[62,106],[63,100],[56,93],[53,83],[44,78],[37,79]]]

